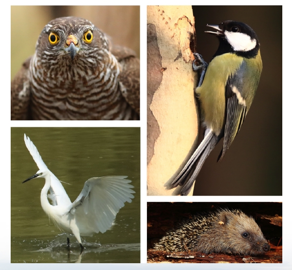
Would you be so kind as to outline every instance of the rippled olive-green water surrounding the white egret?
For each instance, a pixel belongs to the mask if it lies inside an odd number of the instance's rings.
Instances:
[[[85,250],[50,224],[40,204],[44,179],[21,182],[38,168],[25,147],[30,136],[48,168],[63,184],[71,201],[91,177],[128,175],[135,190],[115,225],[104,234],[81,237]],[[30,183],[32,182],[32,183]],[[11,262],[140,262],[140,129],[139,128],[12,128],[11,129]]]

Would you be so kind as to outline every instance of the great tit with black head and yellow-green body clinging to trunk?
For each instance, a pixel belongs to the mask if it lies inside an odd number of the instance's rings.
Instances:
[[[204,161],[222,137],[223,149],[217,161],[224,157],[254,99],[262,70],[259,39],[248,25],[227,20],[207,26],[216,29],[206,33],[218,37],[219,48],[209,65],[195,54],[203,68],[195,94],[206,130],[203,141],[172,182],[172,187],[183,186],[182,196],[190,192]]]

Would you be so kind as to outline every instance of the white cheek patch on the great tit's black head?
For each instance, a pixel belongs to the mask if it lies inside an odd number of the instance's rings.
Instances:
[[[225,31],[224,34],[234,51],[250,51],[257,45],[257,41],[255,39],[251,39],[247,34],[228,31]]]

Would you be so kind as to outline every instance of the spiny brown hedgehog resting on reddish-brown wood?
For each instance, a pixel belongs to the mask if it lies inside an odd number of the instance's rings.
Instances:
[[[270,245],[253,218],[241,210],[219,209],[180,221],[154,249],[260,255],[269,251]]]

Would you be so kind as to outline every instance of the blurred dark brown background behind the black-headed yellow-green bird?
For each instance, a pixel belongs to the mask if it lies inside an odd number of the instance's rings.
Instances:
[[[194,195],[282,195],[282,6],[193,6],[197,52],[209,62],[219,41],[208,24],[236,20],[260,39],[263,71],[243,126],[221,163],[207,158]],[[285,179],[284,179],[285,180]],[[287,179],[286,179],[287,181]]]

